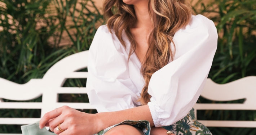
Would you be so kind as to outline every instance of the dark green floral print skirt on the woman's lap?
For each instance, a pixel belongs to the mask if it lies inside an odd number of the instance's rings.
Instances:
[[[125,120],[116,125],[110,126],[98,132],[98,134],[95,134],[95,135],[104,135],[107,131],[109,131],[113,127],[121,124],[132,125],[134,127],[137,127],[138,129],[141,129],[142,132],[144,132],[144,135],[150,135],[150,123],[149,121],[145,121],[145,120],[140,120],[140,121]],[[209,129],[206,126],[199,123],[195,119],[194,109],[191,109],[190,112],[187,114],[187,116],[181,119],[180,121],[170,126],[164,126],[163,128],[173,131],[175,135],[212,135],[212,133],[209,131]]]

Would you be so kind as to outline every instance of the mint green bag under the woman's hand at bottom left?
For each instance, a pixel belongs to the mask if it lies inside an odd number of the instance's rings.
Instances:
[[[21,126],[22,135],[56,135],[48,131],[45,127],[39,128],[39,122]]]

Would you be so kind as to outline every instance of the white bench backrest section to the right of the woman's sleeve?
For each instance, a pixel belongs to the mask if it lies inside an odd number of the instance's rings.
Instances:
[[[210,78],[206,81],[201,96],[213,101],[245,99],[242,104],[195,104],[197,110],[256,110],[256,76],[248,76],[227,84],[216,84]],[[256,127],[256,121],[213,121],[200,120],[208,127]]]

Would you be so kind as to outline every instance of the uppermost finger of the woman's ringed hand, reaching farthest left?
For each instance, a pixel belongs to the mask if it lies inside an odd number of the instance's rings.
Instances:
[[[53,119],[53,118],[56,118],[58,117],[61,113],[62,113],[62,110],[65,109],[65,108],[68,108],[67,106],[63,106],[63,107],[60,107],[60,108],[57,108],[53,111],[50,111],[48,113],[45,113],[43,118],[41,118],[40,120],[40,123],[39,123],[39,127],[40,129],[43,129],[43,127],[45,126],[45,124],[50,120],[50,119]]]

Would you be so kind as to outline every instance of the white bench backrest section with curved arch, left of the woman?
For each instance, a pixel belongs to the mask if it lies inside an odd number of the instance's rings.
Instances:
[[[87,78],[87,72],[76,72],[87,68],[87,56],[88,51],[70,55],[54,64],[42,79],[31,79],[26,84],[20,85],[0,78],[0,109],[41,109],[41,117],[45,113],[63,105],[76,109],[94,109],[89,103],[58,102],[58,94],[87,93],[85,87],[62,87],[68,78]],[[3,102],[1,100],[1,98],[32,100],[41,95],[43,95],[41,103]],[[39,120],[40,118],[0,118],[0,125],[25,125]]]

